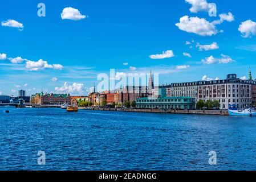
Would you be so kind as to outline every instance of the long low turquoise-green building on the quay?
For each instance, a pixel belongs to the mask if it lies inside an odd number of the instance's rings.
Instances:
[[[137,98],[138,109],[195,109],[196,101],[191,97]]]

